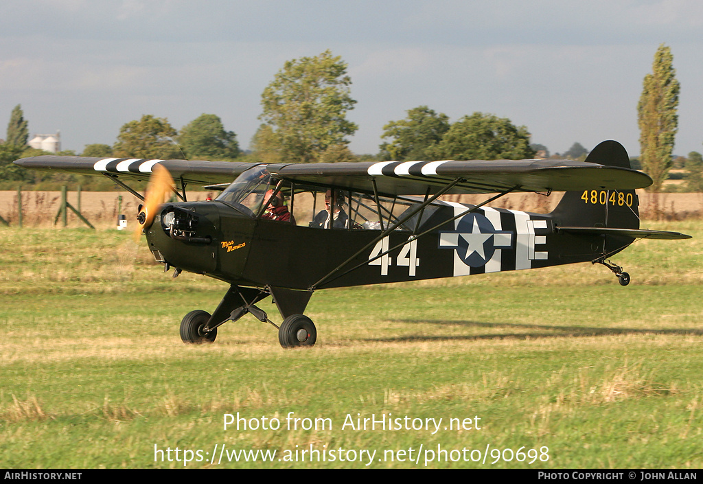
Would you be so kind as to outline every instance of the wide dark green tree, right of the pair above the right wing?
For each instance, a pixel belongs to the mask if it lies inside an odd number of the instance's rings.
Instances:
[[[516,127],[507,117],[473,113],[453,123],[436,146],[435,160],[522,160],[534,157],[527,127]]]

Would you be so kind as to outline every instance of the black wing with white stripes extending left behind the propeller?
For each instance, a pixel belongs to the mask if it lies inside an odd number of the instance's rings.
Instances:
[[[175,180],[186,184],[231,183],[238,175],[258,163],[205,160],[144,160],[138,158],[90,158],[82,156],[43,155],[22,158],[16,165],[34,170],[75,174],[108,174],[119,179],[148,180],[152,167],[159,163]]]

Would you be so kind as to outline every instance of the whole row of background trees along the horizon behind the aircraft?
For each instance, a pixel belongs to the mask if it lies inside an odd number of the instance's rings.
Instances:
[[[652,74],[645,76],[637,106],[640,127],[640,159],[634,160],[654,179],[651,189],[662,184],[674,166],[673,141],[678,127],[680,86],[669,47],[657,49]],[[347,63],[327,50],[316,57],[287,61],[262,93],[262,124],[251,141],[252,151],[240,150],[236,134],[226,131],[214,114],[202,114],[180,131],[166,118],[143,115],[127,122],[112,146],[89,144],[82,156],[115,158],[161,158],[242,160],[261,163],[326,163],[359,160],[496,160],[549,158],[546,146],[530,143],[527,127],[515,126],[508,118],[486,113],[465,115],[450,122],[444,113],[428,106],[406,111],[402,120],[389,121],[381,134],[375,155],[355,155],[348,136],[358,126],[347,120],[356,101]],[[27,120],[16,106],[8,123],[6,140],[0,144],[0,187],[8,181],[40,185],[51,175],[22,170],[15,159],[44,154],[27,147]],[[60,154],[75,155],[72,151]],[[583,160],[588,151],[574,143],[569,151],[553,158]],[[703,162],[697,152],[678,160],[686,174],[686,188],[702,191]],[[53,175],[57,177],[58,175]],[[61,176],[58,176],[61,178]],[[66,175],[62,181],[77,179]]]

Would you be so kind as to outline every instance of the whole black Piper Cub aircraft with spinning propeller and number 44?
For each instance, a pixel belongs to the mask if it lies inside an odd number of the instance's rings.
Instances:
[[[584,162],[266,165],[48,155],[15,163],[110,177],[142,200],[127,182],[152,178],[137,219],[156,260],[174,267],[174,276],[185,270],[231,284],[212,315],[183,317],[185,343],[212,342],[219,326],[247,313],[276,326],[257,307],[271,295],[283,317],[280,344],[314,345],[316,328],[303,312],[323,288],[574,262],[605,265],[626,286],[630,276],[608,257],[637,238],[690,238],[639,228],[634,190],[652,179],[631,169],[616,141],[599,144]],[[188,184],[221,194],[188,202]],[[165,191],[182,201],[162,203]],[[566,193],[549,214],[487,205],[506,193],[553,191]],[[497,194],[479,205],[440,200],[456,193]]]

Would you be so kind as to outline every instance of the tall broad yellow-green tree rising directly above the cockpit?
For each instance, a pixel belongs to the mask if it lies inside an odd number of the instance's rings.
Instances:
[[[357,129],[345,117],[356,103],[350,84],[347,64],[329,50],[283,65],[264,89],[259,119],[271,127],[284,160],[311,163],[328,146],[349,144],[345,136]]]

